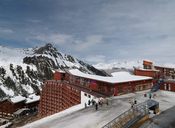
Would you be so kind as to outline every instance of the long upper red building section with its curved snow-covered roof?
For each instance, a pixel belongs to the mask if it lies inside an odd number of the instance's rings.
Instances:
[[[88,88],[106,97],[141,91],[152,86],[151,77],[135,76],[128,72],[116,72],[113,73],[113,77],[104,77],[85,74],[75,69],[70,70],[67,75],[70,83]]]

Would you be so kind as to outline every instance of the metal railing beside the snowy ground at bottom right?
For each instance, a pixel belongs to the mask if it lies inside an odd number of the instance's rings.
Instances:
[[[149,109],[146,101],[135,105],[133,108],[122,113],[102,128],[129,128],[148,113]]]

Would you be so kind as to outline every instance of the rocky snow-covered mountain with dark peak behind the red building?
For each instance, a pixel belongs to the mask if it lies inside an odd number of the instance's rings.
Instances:
[[[89,74],[107,74],[46,44],[39,48],[15,49],[0,46],[0,98],[39,93],[43,80],[52,79],[55,69],[76,68]]]

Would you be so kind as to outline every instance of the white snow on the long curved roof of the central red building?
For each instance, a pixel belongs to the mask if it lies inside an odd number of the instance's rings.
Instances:
[[[75,76],[84,77],[84,78],[93,79],[93,80],[98,80],[98,81],[103,81],[103,82],[107,82],[107,83],[113,83],[113,84],[114,83],[129,82],[129,81],[139,81],[139,80],[152,79],[151,77],[131,75],[128,72],[115,72],[112,74],[113,75],[112,77],[85,74],[85,73],[79,71],[78,69],[72,69],[72,70],[69,70],[69,72]]]

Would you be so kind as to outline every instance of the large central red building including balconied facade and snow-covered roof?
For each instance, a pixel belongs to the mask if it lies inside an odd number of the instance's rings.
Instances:
[[[127,72],[113,75],[113,77],[90,75],[78,69],[55,72],[54,80],[47,80],[44,83],[39,104],[40,116],[52,115],[80,104],[81,91],[95,97],[109,97],[152,87],[150,77],[135,76]]]

